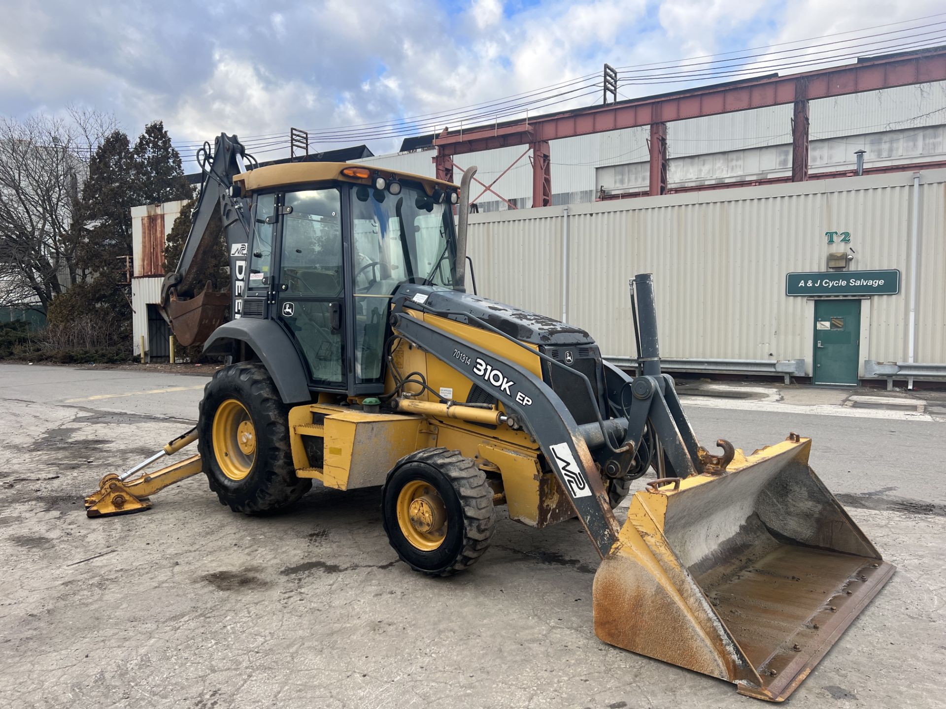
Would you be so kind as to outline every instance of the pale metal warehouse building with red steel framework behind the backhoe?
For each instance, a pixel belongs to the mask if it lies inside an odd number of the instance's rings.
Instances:
[[[669,370],[833,385],[946,376],[946,48],[454,127],[402,148],[304,159],[455,182],[477,164],[479,292],[587,329],[624,366],[627,282],[653,272]],[[136,354],[144,342],[166,356],[151,252],[180,204],[132,211]]]

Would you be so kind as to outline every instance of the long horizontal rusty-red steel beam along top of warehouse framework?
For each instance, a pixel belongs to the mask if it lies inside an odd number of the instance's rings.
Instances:
[[[797,95],[799,80],[807,95]],[[946,49],[911,52],[786,77],[750,79],[735,85],[709,86],[674,94],[612,103],[575,111],[530,116],[526,124],[444,131],[433,144],[446,155],[571,138],[607,130],[648,126],[832,96],[946,80]]]

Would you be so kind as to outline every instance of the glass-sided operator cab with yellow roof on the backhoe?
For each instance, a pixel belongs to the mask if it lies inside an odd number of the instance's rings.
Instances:
[[[330,163],[272,165],[235,182],[250,193],[253,227],[242,284],[234,274],[237,317],[285,328],[310,389],[382,393],[394,289],[456,282],[456,187]]]

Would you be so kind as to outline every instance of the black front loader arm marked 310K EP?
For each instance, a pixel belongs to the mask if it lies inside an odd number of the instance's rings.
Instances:
[[[413,318],[404,305],[410,307],[408,303],[394,306],[394,332],[477,382],[507,411],[516,413],[549,459],[562,490],[604,559],[617,541],[620,527],[585,439],[562,400],[532,372]]]

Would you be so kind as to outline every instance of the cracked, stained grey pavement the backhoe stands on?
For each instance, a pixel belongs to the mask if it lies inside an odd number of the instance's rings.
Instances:
[[[260,518],[198,476],[86,518],[101,476],[192,424],[204,382],[0,365],[0,706],[761,706],[598,640],[575,521],[500,514],[478,564],[427,579],[388,545],[377,489]],[[685,399],[705,443],[812,436],[815,471],[898,566],[789,704],[942,706],[946,422],[810,391]]]

